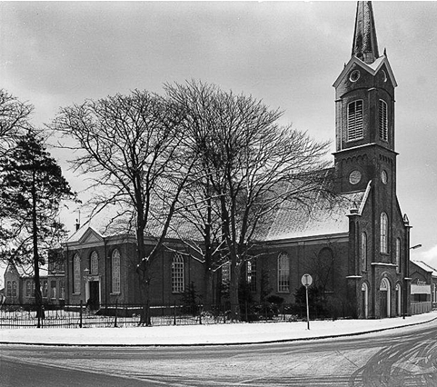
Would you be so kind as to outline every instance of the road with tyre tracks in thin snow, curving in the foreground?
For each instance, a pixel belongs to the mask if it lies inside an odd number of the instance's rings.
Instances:
[[[437,323],[336,340],[263,345],[3,345],[0,385],[437,387]]]

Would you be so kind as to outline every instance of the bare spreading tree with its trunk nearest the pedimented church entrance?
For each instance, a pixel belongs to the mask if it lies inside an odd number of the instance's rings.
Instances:
[[[135,90],[98,101],[65,107],[53,127],[77,141],[75,170],[94,174],[103,192],[94,210],[119,203],[133,225],[137,273],[144,295],[140,323],[150,321],[150,267],[168,232],[176,203],[190,176],[195,157],[188,153],[181,130],[184,114],[158,95]],[[165,203],[157,206],[156,203]],[[159,207],[159,208],[157,208]],[[159,213],[154,211],[159,210]],[[155,237],[146,252],[145,233]]]

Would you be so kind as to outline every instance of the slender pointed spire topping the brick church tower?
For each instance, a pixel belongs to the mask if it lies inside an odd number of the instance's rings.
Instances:
[[[379,57],[372,2],[359,1],[356,6],[352,55],[371,65]]]

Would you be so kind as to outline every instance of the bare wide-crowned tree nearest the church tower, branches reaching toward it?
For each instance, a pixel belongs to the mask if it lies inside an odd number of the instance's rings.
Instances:
[[[219,203],[232,314],[239,319],[238,283],[249,251],[282,203],[310,208],[314,193],[329,190],[323,184],[328,144],[280,126],[282,113],[252,96],[195,81],[167,84],[165,90],[184,109],[185,130]]]

